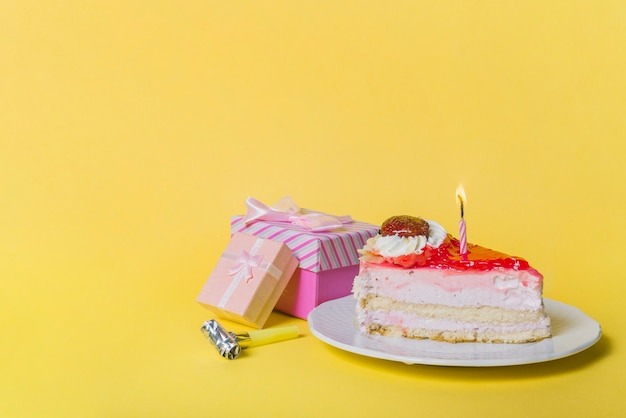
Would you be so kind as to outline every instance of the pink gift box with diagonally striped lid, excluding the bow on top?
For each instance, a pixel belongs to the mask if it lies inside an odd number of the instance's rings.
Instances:
[[[242,216],[231,220],[231,233],[245,232],[287,245],[299,266],[281,295],[276,310],[306,319],[309,312],[328,300],[347,296],[359,272],[359,253],[378,225],[348,222],[341,228],[312,232],[276,221],[257,220],[245,224]]]

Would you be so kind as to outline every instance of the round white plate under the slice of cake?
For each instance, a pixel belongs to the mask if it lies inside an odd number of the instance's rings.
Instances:
[[[579,309],[544,299],[552,338],[525,344],[446,343],[364,335],[354,324],[352,296],[325,302],[309,313],[309,328],[320,340],[352,353],[407,364],[438,366],[513,366],[556,360],[596,343],[600,324]]]

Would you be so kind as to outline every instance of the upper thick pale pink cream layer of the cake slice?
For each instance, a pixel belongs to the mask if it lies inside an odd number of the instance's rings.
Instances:
[[[529,271],[464,273],[380,265],[369,269],[364,263],[353,290],[357,299],[376,294],[407,303],[539,310],[543,306],[542,285],[541,277]]]

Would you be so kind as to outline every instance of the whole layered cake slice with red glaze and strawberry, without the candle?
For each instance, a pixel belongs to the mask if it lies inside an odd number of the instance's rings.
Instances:
[[[478,245],[459,254],[441,225],[395,216],[360,251],[357,322],[368,334],[447,342],[550,337],[543,276],[519,257]]]

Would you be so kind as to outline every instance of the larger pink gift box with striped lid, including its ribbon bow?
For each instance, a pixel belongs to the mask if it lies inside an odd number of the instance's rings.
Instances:
[[[319,304],[351,294],[354,277],[359,272],[358,250],[378,234],[379,226],[354,221],[349,216],[332,217],[300,209],[287,200],[290,203],[283,200],[268,208],[248,199],[248,214],[231,219],[231,233],[272,239],[291,249],[299,265],[276,310],[306,319]]]

